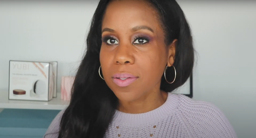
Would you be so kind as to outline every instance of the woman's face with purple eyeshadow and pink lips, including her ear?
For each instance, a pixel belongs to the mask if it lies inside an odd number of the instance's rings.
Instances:
[[[121,101],[159,92],[175,46],[166,46],[156,11],[145,1],[109,3],[102,21],[100,64],[103,78]]]

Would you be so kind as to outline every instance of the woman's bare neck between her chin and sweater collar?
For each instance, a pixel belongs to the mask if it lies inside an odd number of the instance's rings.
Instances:
[[[144,113],[154,110],[167,99],[167,93],[159,90],[142,95],[140,99],[132,102],[119,101],[118,110],[125,113]]]

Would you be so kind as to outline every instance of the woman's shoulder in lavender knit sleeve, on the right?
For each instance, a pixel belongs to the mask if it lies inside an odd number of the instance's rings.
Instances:
[[[237,137],[225,114],[214,104],[172,94],[179,101],[177,117],[194,137]]]

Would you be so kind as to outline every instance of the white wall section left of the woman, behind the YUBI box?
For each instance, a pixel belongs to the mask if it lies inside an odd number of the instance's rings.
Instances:
[[[9,60],[58,61],[60,78],[75,75],[97,3],[0,2],[0,90],[7,90]]]

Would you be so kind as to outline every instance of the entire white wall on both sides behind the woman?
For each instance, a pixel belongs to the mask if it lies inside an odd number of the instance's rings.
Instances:
[[[217,105],[238,137],[255,137],[256,3],[178,2],[198,53],[194,99]],[[96,6],[95,1],[1,2],[0,90],[8,88],[9,60],[57,60],[59,78],[74,75]]]

